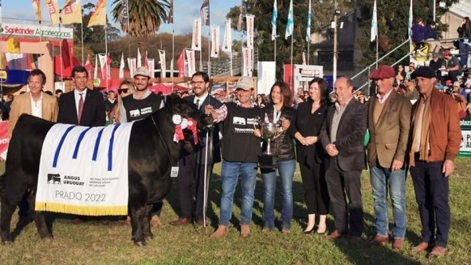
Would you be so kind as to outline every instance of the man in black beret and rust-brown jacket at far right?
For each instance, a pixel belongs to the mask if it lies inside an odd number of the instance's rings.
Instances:
[[[462,137],[458,108],[452,97],[435,88],[432,68],[422,66],[411,77],[416,79],[420,99],[412,110],[409,165],[422,224],[421,242],[413,251],[433,246],[429,257],[444,256],[451,219],[448,176]]]

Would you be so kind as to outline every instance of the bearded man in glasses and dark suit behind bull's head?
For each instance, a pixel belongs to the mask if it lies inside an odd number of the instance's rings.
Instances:
[[[196,72],[191,77],[194,96],[185,98],[185,100],[194,103],[201,111],[205,110],[207,105],[219,108],[222,103],[209,94],[209,76],[205,72]],[[193,220],[199,225],[204,225],[204,196],[205,196],[205,167],[207,172],[212,172],[212,165],[221,161],[219,151],[219,130],[215,126],[212,132],[212,139],[208,142],[208,160],[206,160],[207,134],[202,132],[199,135],[199,145],[196,146],[195,153],[188,153],[182,149],[179,161],[178,191],[180,199],[180,218],[170,222],[172,225],[191,224]],[[210,146],[212,145],[212,151]],[[195,188],[194,188],[195,185]],[[209,175],[207,176],[206,189],[209,186]],[[196,190],[196,206],[193,218],[193,190]]]

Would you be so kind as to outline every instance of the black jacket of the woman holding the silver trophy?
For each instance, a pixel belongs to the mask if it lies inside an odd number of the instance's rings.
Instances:
[[[268,116],[270,122],[273,121],[273,105],[267,105],[266,107],[263,108],[263,111],[265,112],[265,115]],[[283,106],[281,108],[281,116],[280,116],[280,124],[281,124],[281,118],[286,118],[290,122],[290,127],[293,126],[294,123],[294,115],[295,115],[296,110],[293,107],[285,107]],[[263,122],[263,118],[262,118]],[[267,142],[263,142],[262,145],[262,151],[265,151],[267,148]],[[274,139],[270,143],[270,151],[276,155],[278,161],[282,160],[290,160],[290,159],[296,159],[296,154],[294,152],[294,146],[293,146],[293,139],[291,138],[291,135],[289,134],[289,129],[285,130],[281,133],[278,138]]]

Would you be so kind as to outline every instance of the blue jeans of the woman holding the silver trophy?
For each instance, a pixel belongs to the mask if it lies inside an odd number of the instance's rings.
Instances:
[[[296,160],[284,160],[277,163],[281,181],[281,196],[283,199],[281,207],[281,226],[291,228],[293,216],[293,177],[296,169]],[[262,169],[263,177],[263,227],[273,230],[275,227],[275,205],[276,172],[274,169]]]

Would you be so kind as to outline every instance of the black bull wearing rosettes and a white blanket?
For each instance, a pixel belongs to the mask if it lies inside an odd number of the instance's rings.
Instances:
[[[177,97],[169,97],[162,109],[132,126],[128,159],[128,212],[131,215],[132,239],[137,245],[144,245],[146,239],[153,238],[150,228],[151,203],[163,200],[171,188],[171,166],[177,165],[182,146],[182,143],[173,141],[174,114],[195,119],[198,129],[205,129],[212,123],[195,105]],[[22,115],[15,127],[5,173],[0,177],[0,236],[4,243],[11,243],[11,217],[23,194],[28,190],[28,202],[38,234],[43,239],[52,238],[43,212],[34,211],[34,205],[41,149],[46,134],[53,125],[54,123],[43,119]],[[192,140],[191,132],[183,132],[185,140]]]

